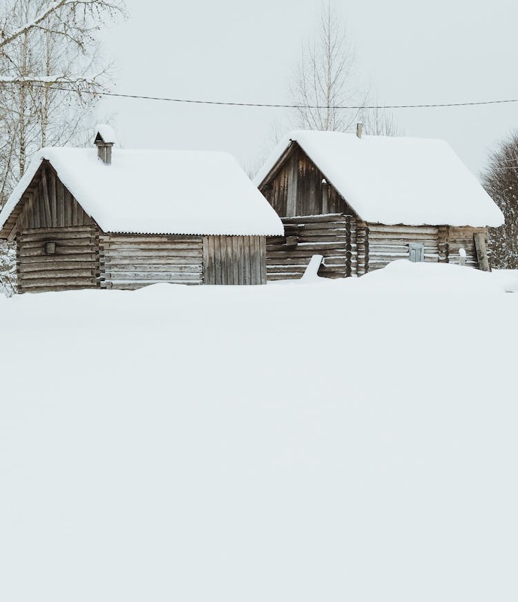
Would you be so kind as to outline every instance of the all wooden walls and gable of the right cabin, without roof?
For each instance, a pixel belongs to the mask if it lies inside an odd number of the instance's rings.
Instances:
[[[320,275],[363,275],[408,259],[411,242],[423,244],[425,262],[458,264],[463,247],[466,265],[478,268],[474,234],[483,233],[487,240],[484,228],[361,221],[296,143],[280,157],[260,191],[285,224],[284,236],[267,240],[269,280],[300,278],[314,254],[325,258]]]

